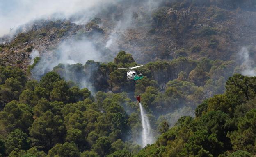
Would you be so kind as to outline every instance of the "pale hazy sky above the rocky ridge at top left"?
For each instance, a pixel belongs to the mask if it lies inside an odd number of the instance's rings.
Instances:
[[[39,18],[69,18],[75,13],[96,13],[119,0],[0,0],[0,36]],[[54,14],[54,16],[52,16]],[[86,15],[86,13],[84,13]]]

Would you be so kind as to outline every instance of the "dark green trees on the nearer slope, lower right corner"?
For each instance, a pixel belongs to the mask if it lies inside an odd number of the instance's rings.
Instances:
[[[136,157],[251,157],[255,154],[256,77],[235,74],[224,94],[200,104],[197,117],[181,117]]]

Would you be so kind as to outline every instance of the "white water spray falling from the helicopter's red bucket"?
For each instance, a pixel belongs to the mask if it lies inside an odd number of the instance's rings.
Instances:
[[[139,102],[140,115],[142,120],[142,146],[145,147],[147,144],[153,143],[153,137],[151,133],[151,127],[149,124],[149,119],[145,114],[142,104]]]

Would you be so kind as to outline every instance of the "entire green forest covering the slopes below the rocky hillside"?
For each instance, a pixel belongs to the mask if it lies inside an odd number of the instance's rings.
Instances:
[[[124,51],[108,64],[59,64],[39,82],[31,79],[38,60],[27,73],[17,66],[0,66],[2,157],[252,157],[256,153],[256,77],[217,75],[229,75],[233,62],[186,57],[149,62],[139,69],[145,78],[134,83],[126,81],[125,70],[117,70],[137,65]],[[73,78],[65,80],[67,73]],[[91,80],[94,93],[78,87],[81,80],[76,78],[83,77]],[[145,148],[140,146],[137,94],[156,140]]]

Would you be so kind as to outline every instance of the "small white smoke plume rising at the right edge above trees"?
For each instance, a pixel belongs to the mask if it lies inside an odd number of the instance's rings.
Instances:
[[[243,47],[239,52],[239,57],[242,59],[242,75],[256,76],[256,67],[254,60],[250,58],[247,47]]]

